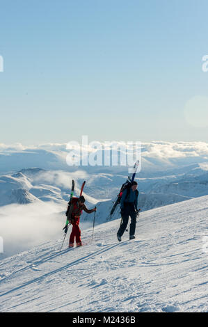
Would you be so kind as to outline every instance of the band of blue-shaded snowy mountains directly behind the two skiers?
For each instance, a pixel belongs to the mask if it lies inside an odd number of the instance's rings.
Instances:
[[[163,173],[165,175],[149,178],[142,178],[141,173],[138,174],[136,180],[140,191],[139,206],[143,210],[208,194],[207,163],[178,168],[175,170],[175,175],[168,175],[169,170]],[[75,194],[77,195],[83,180],[87,181],[84,196],[88,204],[96,204],[98,201],[103,202],[111,198],[112,203],[120,185],[126,180],[126,174],[22,169],[17,173],[0,175],[0,206],[35,201],[53,201],[65,206],[64,202],[69,198],[72,179],[76,181]]]

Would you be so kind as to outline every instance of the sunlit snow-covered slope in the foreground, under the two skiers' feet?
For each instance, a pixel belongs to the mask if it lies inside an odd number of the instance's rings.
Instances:
[[[120,221],[0,263],[1,312],[207,312],[208,196],[141,213],[136,239]],[[92,222],[93,223],[93,222]],[[69,236],[69,235],[67,235]]]

